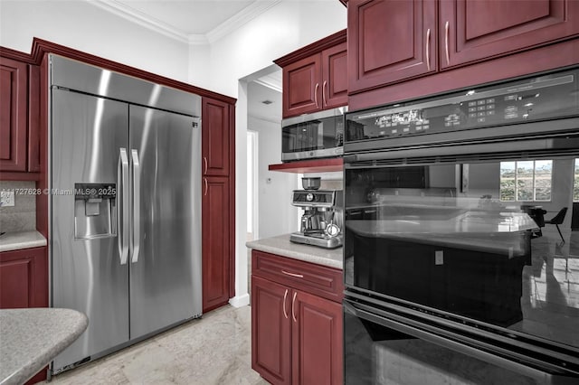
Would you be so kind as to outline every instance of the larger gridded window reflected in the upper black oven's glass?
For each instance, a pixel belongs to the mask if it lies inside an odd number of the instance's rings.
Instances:
[[[501,162],[500,200],[508,202],[551,201],[552,172],[552,160]]]

